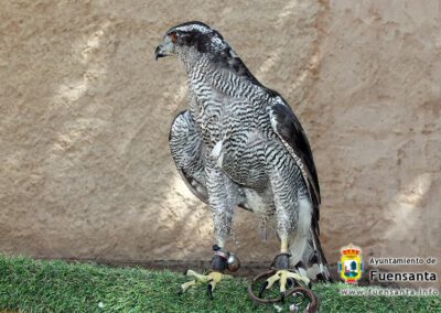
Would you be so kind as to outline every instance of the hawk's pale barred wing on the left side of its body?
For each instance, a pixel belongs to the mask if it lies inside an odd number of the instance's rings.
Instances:
[[[189,190],[208,204],[203,142],[189,110],[179,114],[170,128],[169,144],[176,169]]]

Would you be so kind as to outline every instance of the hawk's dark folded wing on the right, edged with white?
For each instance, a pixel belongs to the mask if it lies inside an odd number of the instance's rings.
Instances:
[[[320,186],[315,171],[314,159],[312,158],[311,147],[302,126],[297,119],[291,107],[280,97],[276,97],[277,102],[267,107],[273,131],[288,149],[295,163],[301,169],[303,179],[310,191],[313,213],[312,220],[316,231],[319,231],[319,207],[320,207]]]

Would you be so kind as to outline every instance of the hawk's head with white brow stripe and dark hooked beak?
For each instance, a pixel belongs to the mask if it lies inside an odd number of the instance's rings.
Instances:
[[[176,54],[181,60],[191,56],[216,55],[229,48],[224,37],[207,24],[186,22],[166,31],[163,42],[154,51],[159,57]]]

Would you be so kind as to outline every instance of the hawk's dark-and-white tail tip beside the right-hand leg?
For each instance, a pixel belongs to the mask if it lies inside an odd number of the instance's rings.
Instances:
[[[332,281],[326,258],[320,245],[319,234],[315,227],[310,228],[306,248],[304,249],[302,261],[299,265],[305,268],[308,278],[312,281]]]

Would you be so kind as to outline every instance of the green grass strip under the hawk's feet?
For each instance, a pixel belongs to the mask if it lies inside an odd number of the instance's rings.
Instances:
[[[0,255],[0,311],[20,312],[275,312],[255,304],[247,281],[222,281],[214,301],[197,287],[179,296],[187,281],[171,271],[109,268],[92,263],[35,261]],[[342,283],[315,284],[322,312],[441,312],[439,296],[343,296]],[[287,312],[288,304],[284,304]]]

